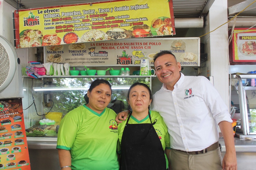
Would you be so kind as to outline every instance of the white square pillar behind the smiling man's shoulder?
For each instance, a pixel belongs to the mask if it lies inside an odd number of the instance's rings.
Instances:
[[[205,33],[227,22],[227,12],[227,0],[215,0],[207,16]],[[214,77],[214,87],[229,107],[228,25],[205,35],[201,42],[205,43],[208,61],[203,64],[204,68],[200,72],[207,76],[207,68],[210,70],[209,75]]]

